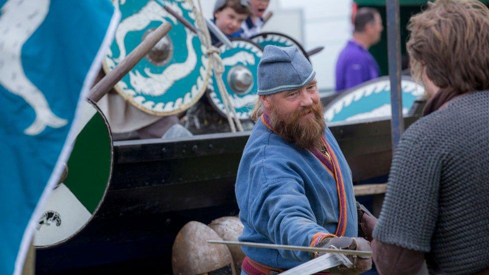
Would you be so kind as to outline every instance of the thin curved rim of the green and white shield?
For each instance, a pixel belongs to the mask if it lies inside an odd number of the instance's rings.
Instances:
[[[65,242],[71,240],[76,235],[78,235],[83,229],[85,229],[85,227],[87,227],[87,225],[90,223],[90,221],[92,221],[92,219],[95,217],[95,214],[98,212],[100,206],[104,202],[105,196],[107,195],[107,191],[109,190],[110,181],[112,180],[112,171],[114,169],[114,140],[112,139],[112,132],[110,130],[110,125],[109,125],[109,122],[108,122],[107,118],[103,114],[102,110],[99,109],[99,107],[97,106],[97,104],[95,104],[92,100],[90,100],[88,98],[86,99],[86,101],[90,105],[92,105],[92,107],[94,107],[95,110],[97,111],[97,113],[102,117],[102,119],[103,119],[103,121],[105,123],[105,126],[107,127],[108,134],[109,134],[109,141],[110,141],[110,168],[109,168],[109,177],[107,178],[107,184],[105,185],[104,194],[100,198],[100,201],[99,201],[97,207],[95,207],[92,215],[90,215],[90,218],[85,222],[85,224],[83,224],[82,227],[80,227],[77,231],[75,231],[73,234],[71,234],[69,237],[67,237],[64,240],[61,240],[61,241],[58,241],[56,243],[49,244],[49,245],[35,246],[36,249],[46,249],[46,248],[56,247],[58,245],[61,245],[61,244],[65,243]]]

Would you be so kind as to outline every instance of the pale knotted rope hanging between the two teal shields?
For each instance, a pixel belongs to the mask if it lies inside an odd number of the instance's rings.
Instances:
[[[190,2],[193,14],[195,15],[195,22],[198,27],[198,36],[200,38],[200,41],[203,42],[205,48],[207,49],[207,57],[212,60],[215,79],[217,80],[217,88],[222,98],[222,104],[224,105],[224,110],[226,112],[227,122],[229,123],[229,127],[231,128],[231,132],[236,132],[236,126],[238,131],[242,132],[243,127],[241,125],[241,121],[239,121],[239,118],[237,117],[231,97],[229,96],[229,93],[227,93],[226,86],[224,85],[224,81],[222,80],[222,74],[224,73],[224,64],[222,63],[222,59],[220,57],[220,51],[211,44],[209,30],[207,29],[207,25],[205,24],[204,18],[202,16],[202,6],[200,4],[200,0],[197,0],[199,11],[197,11],[195,5],[193,5],[193,2]]]

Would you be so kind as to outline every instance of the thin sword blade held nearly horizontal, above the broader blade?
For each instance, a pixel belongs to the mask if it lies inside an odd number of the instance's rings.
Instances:
[[[324,253],[340,253],[340,254],[345,254],[345,255],[357,255],[357,256],[372,256],[371,251],[362,251],[362,250],[335,249],[335,248],[324,248],[324,247],[269,244],[269,243],[230,241],[230,240],[207,240],[207,242],[208,243],[220,243],[220,244],[226,244],[226,245],[242,245],[242,246],[251,246],[251,247],[259,247],[259,248],[270,248],[270,249],[284,249],[284,250],[296,250],[296,251],[307,251],[307,252],[324,252]]]

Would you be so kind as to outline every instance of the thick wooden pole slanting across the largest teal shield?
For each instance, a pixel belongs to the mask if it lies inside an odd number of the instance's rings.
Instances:
[[[161,24],[156,30],[149,34],[136,49],[134,49],[114,70],[108,73],[97,85],[95,85],[88,95],[88,99],[98,102],[107,94],[136,64],[143,59],[148,52],[171,30],[168,22]]]

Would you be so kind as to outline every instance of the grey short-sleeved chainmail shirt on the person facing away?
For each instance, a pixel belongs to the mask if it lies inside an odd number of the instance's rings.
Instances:
[[[373,236],[427,252],[444,274],[489,268],[489,91],[455,98],[403,134]]]

